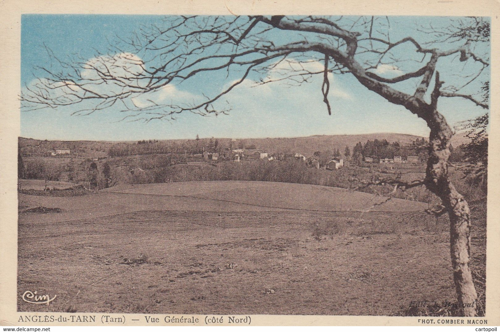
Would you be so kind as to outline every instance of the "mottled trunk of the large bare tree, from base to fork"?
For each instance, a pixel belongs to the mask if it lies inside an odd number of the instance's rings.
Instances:
[[[450,255],[458,306],[464,316],[475,316],[477,293],[469,267],[470,214],[467,201],[448,180],[448,142],[452,131],[439,113],[432,117],[426,186],[442,201],[450,223]]]

